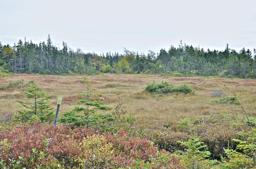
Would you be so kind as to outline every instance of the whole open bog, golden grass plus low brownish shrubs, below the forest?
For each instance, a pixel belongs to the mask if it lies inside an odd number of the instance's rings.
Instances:
[[[119,131],[126,130],[131,137],[149,139],[159,149],[165,149],[171,153],[184,150],[177,141],[187,141],[191,137],[199,138],[207,145],[212,159],[220,159],[225,156],[224,149],[236,149],[238,143],[232,139],[245,140],[248,125],[246,117],[238,104],[223,104],[212,102],[220,97],[216,93],[222,93],[222,97],[232,95],[228,89],[224,89],[224,83],[238,96],[244,105],[250,121],[256,124],[256,80],[254,79],[224,79],[218,78],[217,82],[212,77],[163,77],[160,75],[118,75],[100,74],[88,76],[88,80],[94,85],[94,94],[103,94],[104,105],[113,107],[117,105],[118,97],[115,91],[120,93],[123,105],[122,110],[127,111],[127,119],[118,126]],[[13,74],[0,78],[0,121],[7,117],[5,114],[16,114],[17,110],[24,109],[16,100],[25,101],[27,85],[10,87],[10,84],[23,81],[23,84],[34,81],[46,94],[55,95],[51,98],[51,106],[57,108],[57,97],[63,95],[59,117],[64,111],[70,111],[77,106],[80,100],[77,94],[86,93],[83,76],[57,76],[57,75],[26,75]],[[195,90],[194,93],[184,94],[180,92],[168,94],[152,94],[144,90],[151,83],[162,81],[179,86],[186,83]],[[55,110],[56,110],[55,108]],[[224,148],[224,149],[223,149]]]

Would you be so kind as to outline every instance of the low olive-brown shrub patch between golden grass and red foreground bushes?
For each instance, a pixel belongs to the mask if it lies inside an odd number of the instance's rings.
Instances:
[[[200,119],[201,120],[198,120]],[[159,149],[165,149],[171,153],[184,150],[179,147],[177,141],[187,141],[191,137],[198,137],[207,145],[212,159],[220,159],[225,156],[224,149],[236,147],[236,143],[230,143],[233,138],[243,139],[243,132],[248,131],[244,124],[230,124],[230,120],[223,120],[224,117],[218,114],[211,120],[202,121],[197,119],[136,119],[135,123],[127,124],[126,128],[131,136],[141,136],[150,139]],[[201,122],[200,122],[201,121]],[[141,130],[143,129],[143,130]]]

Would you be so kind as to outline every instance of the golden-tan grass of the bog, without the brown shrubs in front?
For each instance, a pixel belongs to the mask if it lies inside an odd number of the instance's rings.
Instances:
[[[16,82],[24,79],[24,84],[34,81],[39,84],[41,89],[46,90],[46,94],[55,95],[51,98],[51,106],[57,108],[57,97],[77,95],[86,92],[86,86],[82,82],[83,76],[57,76],[57,75],[11,75],[1,77],[3,84]],[[163,77],[160,75],[117,75],[117,74],[100,74],[88,76],[88,80],[94,85],[97,91],[94,94],[102,93],[106,98],[104,105],[114,106],[118,104],[115,90],[120,92],[122,98],[123,110],[135,117],[149,118],[193,118],[200,115],[209,115],[213,109],[220,112],[241,113],[240,109],[231,109],[218,107],[210,102],[213,98],[211,93],[223,89],[223,86],[211,77]],[[176,86],[186,83],[195,90],[194,94],[174,93],[174,94],[150,94],[144,91],[144,87],[155,81],[161,83],[167,81]],[[245,79],[218,79],[220,82],[227,84],[235,93],[242,92],[242,88],[248,95],[241,95],[240,101],[243,105],[252,105],[256,100],[256,80]],[[118,84],[117,87],[108,87],[108,84]],[[26,91],[25,86],[8,88],[0,91],[0,111],[16,111],[24,109],[16,100],[26,100],[21,91]],[[228,90],[225,94],[231,94]],[[18,95],[23,94],[22,97]],[[75,102],[63,104],[60,107],[60,115],[64,111],[73,109]],[[249,113],[256,115],[255,107],[250,107]]]

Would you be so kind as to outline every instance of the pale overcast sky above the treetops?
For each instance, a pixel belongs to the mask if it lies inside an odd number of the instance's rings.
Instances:
[[[0,42],[62,41],[76,51],[148,53],[179,41],[207,50],[256,48],[255,0],[1,0]]]

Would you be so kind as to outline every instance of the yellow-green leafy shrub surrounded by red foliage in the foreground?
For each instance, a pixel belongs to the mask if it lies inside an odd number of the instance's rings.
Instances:
[[[80,163],[81,168],[111,168],[113,166],[112,143],[107,143],[103,135],[92,135],[84,138],[80,143],[80,149],[83,150],[81,157],[75,159]]]

